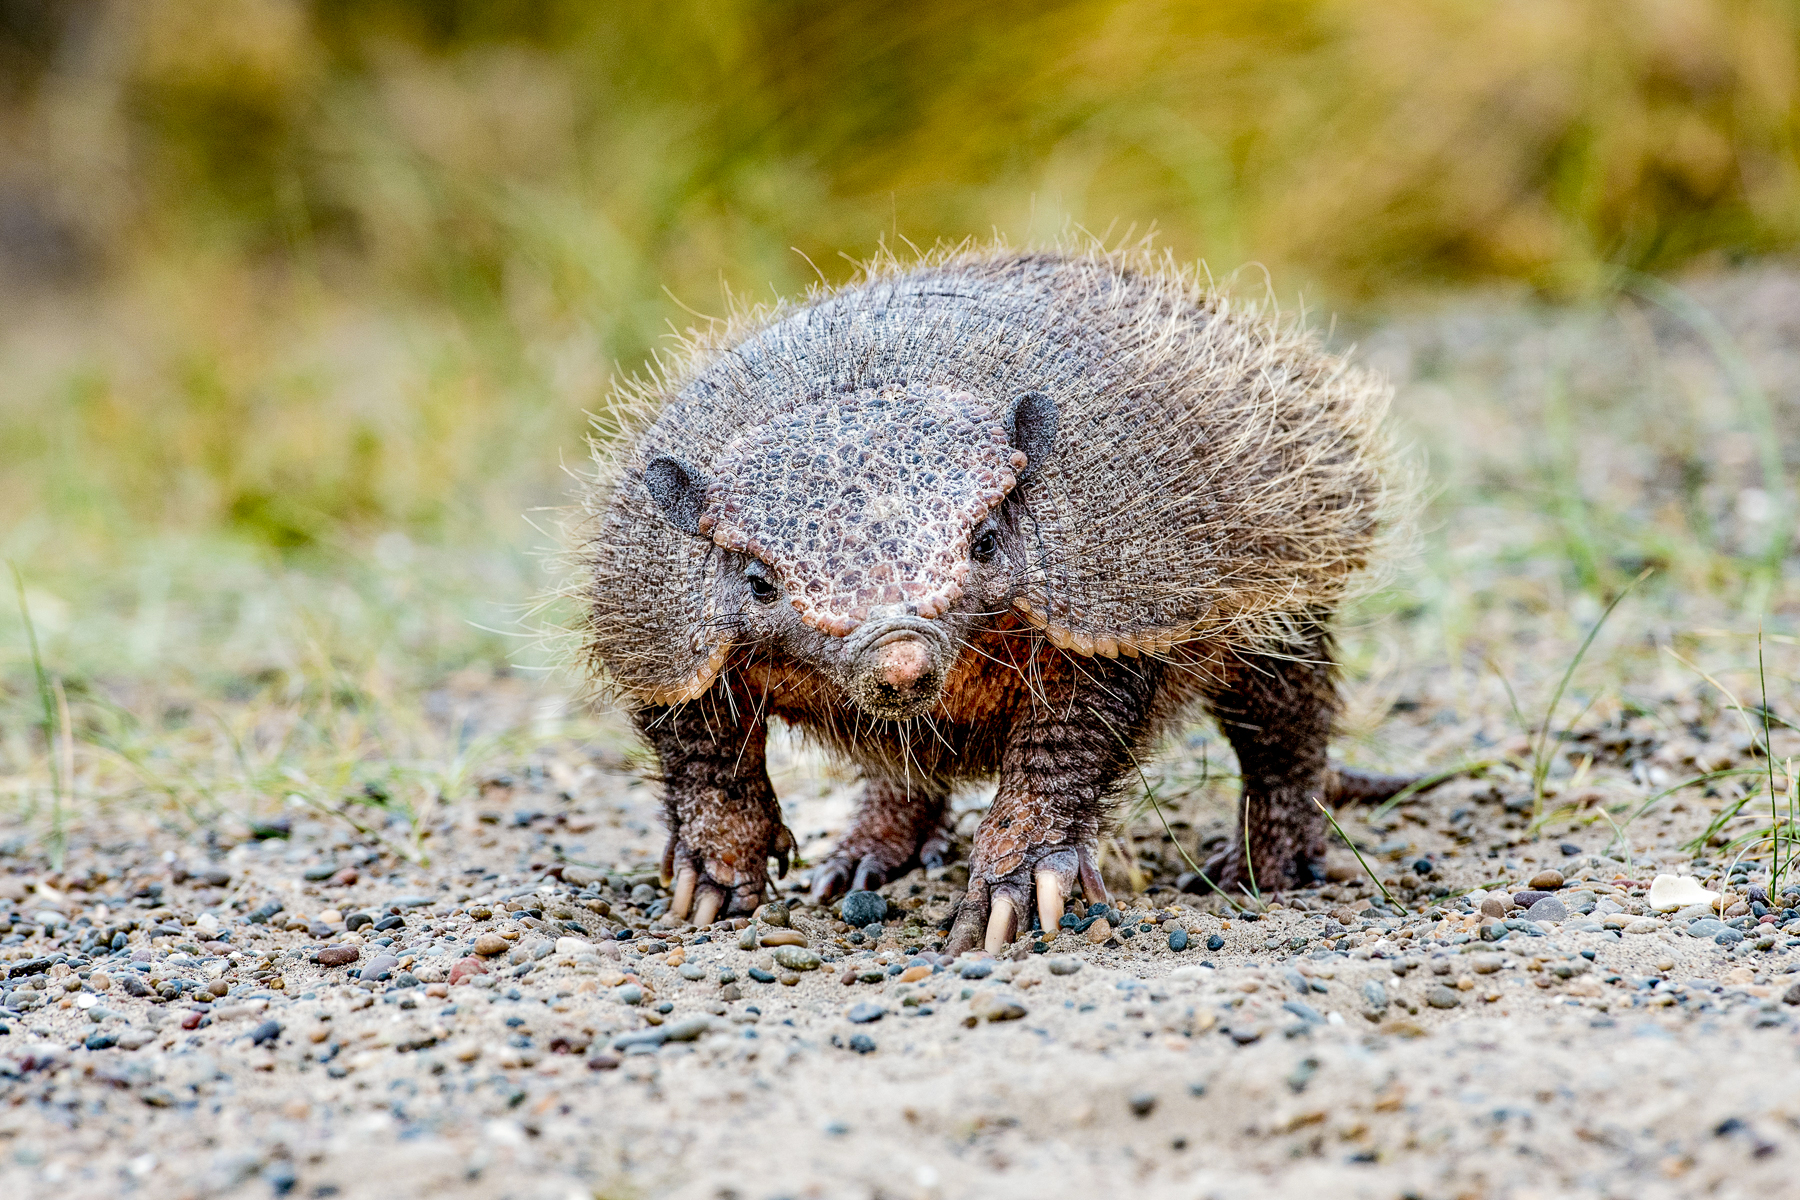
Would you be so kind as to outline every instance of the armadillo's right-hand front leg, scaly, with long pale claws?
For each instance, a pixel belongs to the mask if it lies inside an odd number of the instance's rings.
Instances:
[[[1089,901],[1107,900],[1094,860],[1100,826],[1148,732],[1163,666],[1064,658],[1060,667],[1046,671],[1044,694],[1008,734],[947,954],[976,945],[999,954],[1030,927],[1033,901],[1053,937],[1076,882]]]

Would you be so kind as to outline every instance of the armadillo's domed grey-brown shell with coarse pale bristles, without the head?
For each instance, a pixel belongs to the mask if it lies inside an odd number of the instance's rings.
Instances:
[[[716,581],[754,538],[722,515],[745,498],[715,489],[707,531],[731,533],[693,536],[650,495],[648,466],[711,471],[743,459],[747,432],[824,428],[821,407],[869,394],[954,394],[981,414],[1053,401],[1055,443],[1013,498],[1030,547],[1013,608],[1078,655],[1283,653],[1368,585],[1409,495],[1388,385],[1168,254],[882,254],[842,286],[689,329],[616,387],[574,533],[590,678],[634,707],[680,703],[733,649]]]

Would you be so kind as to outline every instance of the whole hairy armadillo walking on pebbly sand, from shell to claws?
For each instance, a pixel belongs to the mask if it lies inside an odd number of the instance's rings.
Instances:
[[[752,909],[794,838],[769,718],[866,790],[815,900],[950,851],[999,777],[949,948],[1103,898],[1109,802],[1213,712],[1242,766],[1237,892],[1314,878],[1330,619],[1391,488],[1386,389],[1168,261],[956,252],[697,340],[599,443],[587,649],[655,747],[673,912]]]

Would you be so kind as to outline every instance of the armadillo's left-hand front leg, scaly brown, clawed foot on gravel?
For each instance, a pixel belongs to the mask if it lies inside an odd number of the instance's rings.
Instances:
[[[706,702],[634,714],[662,763],[662,885],[675,885],[670,912],[695,925],[754,912],[769,889],[769,860],[787,874],[794,835],[765,765],[767,730],[738,723]],[[707,709],[711,705],[706,705]]]

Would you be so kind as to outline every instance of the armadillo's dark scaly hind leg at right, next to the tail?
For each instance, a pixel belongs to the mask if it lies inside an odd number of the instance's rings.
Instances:
[[[1323,622],[1292,658],[1246,655],[1228,662],[1226,685],[1208,703],[1237,750],[1244,792],[1231,846],[1206,862],[1206,878],[1233,900],[1323,878],[1319,802],[1334,779],[1325,750],[1337,714],[1337,667]]]

